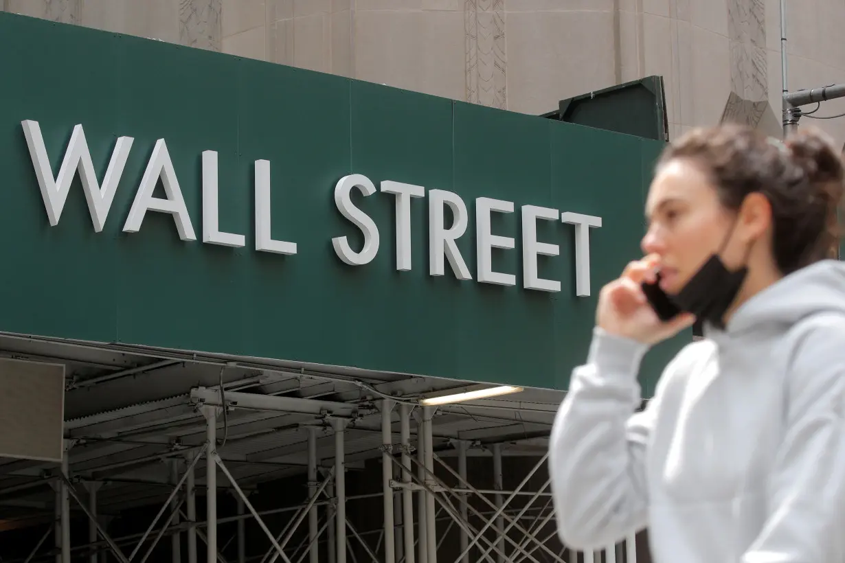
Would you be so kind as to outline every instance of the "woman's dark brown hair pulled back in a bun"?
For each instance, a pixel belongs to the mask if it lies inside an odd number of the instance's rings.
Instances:
[[[704,168],[728,209],[739,210],[750,193],[766,196],[782,273],[837,256],[845,168],[824,133],[802,129],[781,142],[751,127],[723,124],[694,129],[669,144],[657,168],[679,158]]]

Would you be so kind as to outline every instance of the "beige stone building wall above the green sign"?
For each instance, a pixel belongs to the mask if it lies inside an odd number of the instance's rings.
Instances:
[[[780,130],[779,0],[0,0],[8,11],[511,111],[662,74],[672,135]],[[789,89],[845,82],[845,4],[788,0]],[[826,102],[817,115],[845,113]],[[845,118],[803,119],[845,141]]]

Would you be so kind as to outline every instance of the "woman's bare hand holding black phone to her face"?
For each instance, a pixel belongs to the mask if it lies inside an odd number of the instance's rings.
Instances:
[[[619,279],[602,288],[598,296],[597,325],[606,333],[632,338],[642,344],[657,344],[692,326],[695,317],[682,313],[661,322],[651,308],[641,284],[656,280],[657,257],[646,257],[628,264]]]

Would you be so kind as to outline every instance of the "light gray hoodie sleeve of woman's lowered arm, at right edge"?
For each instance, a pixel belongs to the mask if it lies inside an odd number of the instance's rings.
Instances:
[[[845,560],[845,317],[811,323],[787,373],[766,524],[742,563]]]

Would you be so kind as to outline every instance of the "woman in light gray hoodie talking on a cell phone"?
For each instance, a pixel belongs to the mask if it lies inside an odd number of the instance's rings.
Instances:
[[[845,561],[842,160],[820,133],[747,127],[668,145],[646,257],[598,298],[550,440],[560,538],[600,549],[648,528],[657,563]],[[646,408],[649,346],[695,320]]]

